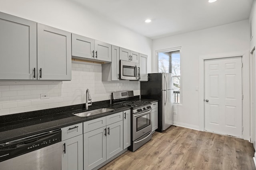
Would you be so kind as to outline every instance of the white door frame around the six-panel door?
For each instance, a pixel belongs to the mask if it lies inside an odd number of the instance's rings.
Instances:
[[[242,57],[242,138],[250,141],[250,70],[249,51],[238,51],[232,53],[210,54],[199,56],[199,130],[205,131],[204,125],[204,61],[209,59],[221,59],[230,57]]]

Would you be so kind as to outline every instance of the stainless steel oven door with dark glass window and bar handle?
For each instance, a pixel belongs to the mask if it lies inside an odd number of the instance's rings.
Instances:
[[[133,117],[133,132],[132,139],[142,137],[146,133],[152,131],[152,109],[141,111],[132,115]]]

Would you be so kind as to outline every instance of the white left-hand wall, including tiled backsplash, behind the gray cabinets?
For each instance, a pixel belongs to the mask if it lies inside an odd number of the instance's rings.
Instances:
[[[0,12],[36,21],[52,27],[98,39],[106,43],[148,55],[151,61],[152,40],[108,21],[72,0],[0,0]],[[92,101],[108,100],[111,92],[135,90],[139,82],[101,82],[100,64],[72,62],[72,81],[0,82],[0,115],[82,104],[86,88]],[[40,99],[48,93],[50,99]]]

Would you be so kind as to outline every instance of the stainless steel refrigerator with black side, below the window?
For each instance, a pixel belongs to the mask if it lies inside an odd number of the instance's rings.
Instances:
[[[140,82],[142,99],[158,100],[158,129],[162,132],[173,124],[172,73],[150,73],[147,82]]]

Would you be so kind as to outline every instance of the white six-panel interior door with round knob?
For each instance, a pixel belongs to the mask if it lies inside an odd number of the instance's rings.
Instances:
[[[242,57],[205,61],[205,130],[242,137]]]

